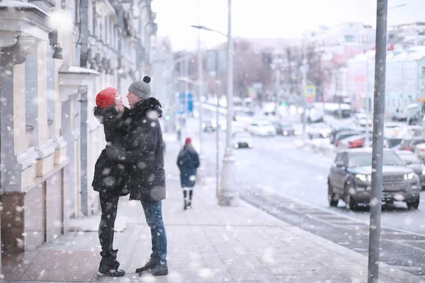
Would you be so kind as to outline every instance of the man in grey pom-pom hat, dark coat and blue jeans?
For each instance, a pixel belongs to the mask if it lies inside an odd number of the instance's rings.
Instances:
[[[161,103],[151,98],[150,78],[135,81],[128,88],[130,112],[126,119],[128,135],[123,146],[108,146],[108,157],[128,164],[130,171],[130,200],[142,203],[152,236],[152,254],[144,267],[136,272],[167,275],[166,231],[162,219],[162,200],[166,198],[164,171],[164,141],[159,117]]]

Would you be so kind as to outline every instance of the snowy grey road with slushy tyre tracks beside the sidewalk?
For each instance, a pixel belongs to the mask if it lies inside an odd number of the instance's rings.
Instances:
[[[197,123],[188,120],[188,128],[198,129]],[[221,166],[225,132],[220,132],[220,137]],[[253,137],[254,148],[234,150],[242,198],[284,221],[367,255],[368,207],[352,212],[343,201],[338,207],[329,207],[327,174],[334,156],[299,149],[297,139]],[[215,165],[215,146],[215,133],[204,133],[203,155],[208,166]],[[214,174],[208,175],[208,179],[214,178]],[[425,191],[421,199],[425,200]],[[409,210],[402,202],[383,207],[381,242],[382,261],[425,277],[425,202],[418,210]]]

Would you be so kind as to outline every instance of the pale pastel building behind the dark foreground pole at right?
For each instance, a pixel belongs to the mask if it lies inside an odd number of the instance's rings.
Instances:
[[[387,51],[385,76],[385,115],[391,117],[425,98],[425,47],[414,46]],[[348,60],[349,93],[356,97],[356,108],[373,111],[375,51]]]

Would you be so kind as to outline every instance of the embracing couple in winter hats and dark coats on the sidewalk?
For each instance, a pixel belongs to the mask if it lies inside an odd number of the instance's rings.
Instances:
[[[114,224],[120,196],[142,203],[152,236],[152,254],[136,272],[154,276],[167,275],[166,232],[162,219],[162,200],[166,197],[164,144],[158,118],[162,116],[159,100],[151,98],[150,78],[135,81],[128,88],[130,109],[115,88],[106,88],[96,96],[94,114],[103,124],[106,149],[99,156],[93,187],[101,201],[99,241],[101,262],[99,275],[121,277],[113,249]]]

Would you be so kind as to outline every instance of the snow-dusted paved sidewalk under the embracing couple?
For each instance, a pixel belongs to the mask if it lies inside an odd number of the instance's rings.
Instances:
[[[176,168],[179,144],[166,144],[168,197],[163,202],[169,275],[138,277],[151,249],[150,231],[139,202],[120,199],[114,248],[125,277],[99,282],[367,282],[368,259],[312,233],[275,219],[241,201],[217,207],[214,179],[195,188],[193,209],[183,211]],[[203,175],[214,175],[203,165]],[[97,216],[99,217],[99,216]],[[83,220],[84,221],[84,220]],[[16,282],[93,282],[100,260],[97,231],[60,236],[38,250],[6,259],[6,279]],[[382,264],[380,282],[424,282]]]

